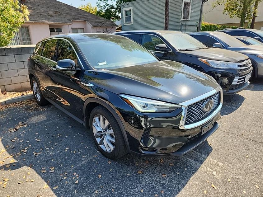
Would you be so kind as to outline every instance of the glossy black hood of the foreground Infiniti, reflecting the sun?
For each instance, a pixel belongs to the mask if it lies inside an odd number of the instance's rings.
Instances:
[[[212,77],[173,61],[113,70],[86,71],[85,75],[84,78],[88,78],[90,83],[115,94],[134,95],[176,104],[219,86]]]

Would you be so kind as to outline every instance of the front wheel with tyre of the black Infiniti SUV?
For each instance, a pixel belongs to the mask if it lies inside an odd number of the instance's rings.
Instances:
[[[90,114],[92,138],[101,151],[109,159],[118,159],[127,154],[124,138],[114,116],[103,106],[95,107]]]

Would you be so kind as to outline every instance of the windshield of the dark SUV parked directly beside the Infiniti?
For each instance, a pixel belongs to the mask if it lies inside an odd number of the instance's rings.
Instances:
[[[207,48],[203,43],[185,33],[163,34],[162,36],[178,50]]]

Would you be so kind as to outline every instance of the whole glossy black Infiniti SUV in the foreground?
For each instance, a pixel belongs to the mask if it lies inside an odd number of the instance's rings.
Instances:
[[[28,59],[35,100],[90,129],[108,158],[182,155],[218,129],[222,88],[184,64],[161,61],[113,34],[55,35]]]

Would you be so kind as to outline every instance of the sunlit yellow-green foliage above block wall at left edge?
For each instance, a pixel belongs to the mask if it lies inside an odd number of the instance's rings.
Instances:
[[[29,12],[18,0],[0,0],[0,47],[11,42],[25,21],[29,21]]]

